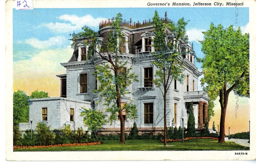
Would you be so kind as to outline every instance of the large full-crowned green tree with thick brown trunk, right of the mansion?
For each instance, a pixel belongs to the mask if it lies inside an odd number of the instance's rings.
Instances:
[[[249,97],[249,34],[241,34],[233,26],[224,29],[222,25],[203,32],[201,41],[205,56],[202,62],[204,78],[201,79],[209,97],[219,96],[221,107],[219,143],[225,142],[225,116],[228,96],[231,91]]]

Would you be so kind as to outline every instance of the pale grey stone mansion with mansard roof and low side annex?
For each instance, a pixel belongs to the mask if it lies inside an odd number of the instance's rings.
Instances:
[[[100,23],[98,37],[100,41],[106,42],[111,21]],[[120,48],[120,60],[127,61],[127,68],[132,67],[132,72],[138,75],[138,82],[133,82],[128,87],[130,94],[122,97],[122,103],[133,100],[138,111],[138,118],[125,118],[125,133],[129,133],[133,123],[136,122],[139,133],[162,133],[164,130],[164,102],[163,95],[157,88],[153,79],[155,78],[156,67],[152,64],[154,60],[153,38],[154,26],[142,24],[126,23],[122,26],[122,33],[125,43]],[[46,123],[50,128],[60,129],[64,124],[70,124],[71,129],[76,130],[82,127],[83,117],[80,116],[81,107],[95,108],[105,112],[106,107],[102,102],[97,104],[99,93],[92,93],[98,87],[93,72],[95,65],[105,63],[101,57],[95,53],[87,59],[88,45],[84,44],[87,38],[76,40],[74,53],[66,63],[61,63],[66,68],[66,74],[56,75],[60,78],[60,97],[31,99],[29,105],[29,120],[33,120],[32,129],[36,128],[38,122]],[[202,73],[195,66],[196,54],[193,50],[193,43],[182,41],[181,49],[186,52],[181,56],[184,61],[183,83],[174,80],[167,93],[167,127],[182,127],[182,117],[184,125],[187,127],[188,111],[190,102],[193,101],[196,129],[204,127],[208,117],[207,104],[209,97],[204,91],[198,91],[198,77]],[[97,51],[100,51],[99,49]],[[30,129],[31,123],[20,123],[20,130]],[[118,133],[120,131],[120,121],[118,119],[110,125],[107,123],[100,130],[101,134]]]

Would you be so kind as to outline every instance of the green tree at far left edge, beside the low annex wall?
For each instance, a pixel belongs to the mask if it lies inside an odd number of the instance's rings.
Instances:
[[[13,125],[28,122],[28,96],[23,91],[13,93]]]

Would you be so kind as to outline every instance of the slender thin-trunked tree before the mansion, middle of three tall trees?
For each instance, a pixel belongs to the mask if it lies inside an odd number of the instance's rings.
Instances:
[[[167,126],[166,126],[166,94],[173,80],[182,82],[184,75],[183,63],[180,50],[181,38],[185,35],[185,26],[187,22],[184,19],[180,19],[175,26],[171,21],[162,21],[159,18],[158,12],[155,11],[153,18],[154,34],[153,46],[155,52],[153,52],[154,62],[152,62],[157,70],[154,80],[156,87],[159,87],[162,91],[164,98],[164,146],[167,145]],[[173,37],[172,32],[175,36]],[[174,41],[176,39],[176,41]]]

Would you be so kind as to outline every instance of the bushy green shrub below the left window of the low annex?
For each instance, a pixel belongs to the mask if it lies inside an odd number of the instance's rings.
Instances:
[[[36,132],[39,145],[52,145],[54,143],[55,134],[50,131],[50,126],[45,123],[37,123]]]

